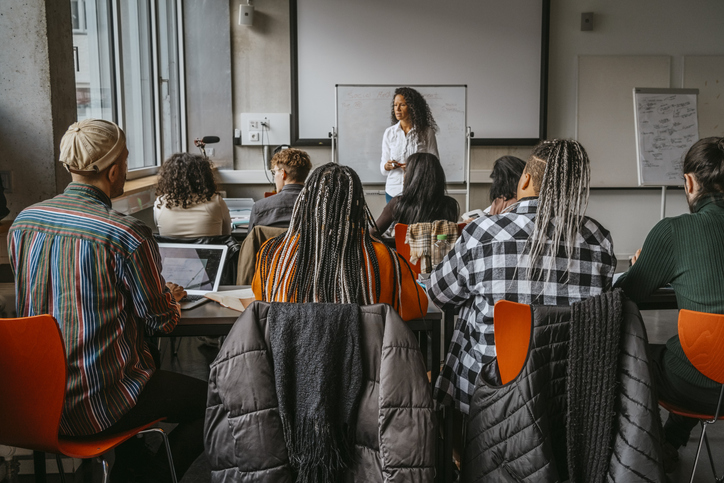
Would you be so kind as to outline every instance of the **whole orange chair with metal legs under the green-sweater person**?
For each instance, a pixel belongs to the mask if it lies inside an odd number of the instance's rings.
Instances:
[[[714,478],[716,481],[724,481],[724,475],[717,476],[711,448],[709,447],[709,438],[706,436],[706,428],[709,425],[714,424],[717,420],[724,419],[722,415],[722,398],[724,397],[724,350],[722,350],[724,347],[724,315],[680,310],[679,341],[686,358],[689,359],[696,370],[722,385],[716,412],[714,414],[700,414],[662,400],[659,400],[659,405],[671,413],[696,418],[701,423],[701,437],[699,438],[699,446],[696,449],[696,458],[694,459],[694,467],[691,470],[690,481],[694,481],[702,442],[706,442],[706,451],[709,454],[709,462],[711,463]]]

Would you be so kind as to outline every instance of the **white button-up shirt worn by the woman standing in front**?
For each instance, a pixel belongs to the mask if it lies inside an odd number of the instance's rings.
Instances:
[[[397,196],[402,193],[402,182],[405,172],[402,168],[396,168],[392,171],[385,170],[387,161],[393,160],[398,163],[404,163],[407,157],[415,153],[430,153],[438,158],[437,138],[435,131],[428,129],[420,135],[415,135],[415,129],[405,135],[405,131],[400,127],[400,123],[385,129],[382,135],[382,161],[380,162],[380,172],[387,177],[385,183],[385,193],[390,196]]]

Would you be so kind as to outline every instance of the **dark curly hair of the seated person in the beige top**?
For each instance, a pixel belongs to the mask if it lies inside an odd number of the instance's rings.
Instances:
[[[158,172],[156,196],[163,196],[168,208],[188,208],[211,200],[216,194],[213,165],[199,154],[176,153],[163,162]]]

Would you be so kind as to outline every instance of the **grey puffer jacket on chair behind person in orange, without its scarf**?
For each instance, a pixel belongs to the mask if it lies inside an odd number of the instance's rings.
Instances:
[[[211,364],[204,444],[213,482],[293,482],[274,389],[269,304],[239,317]],[[362,387],[347,482],[432,482],[435,421],[412,332],[389,305],[360,307]]]

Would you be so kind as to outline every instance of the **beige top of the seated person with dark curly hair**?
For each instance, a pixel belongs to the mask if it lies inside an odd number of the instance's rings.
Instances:
[[[169,208],[163,197],[153,204],[153,219],[161,236],[195,238],[231,234],[231,216],[224,199],[216,193],[209,201],[184,209]]]

